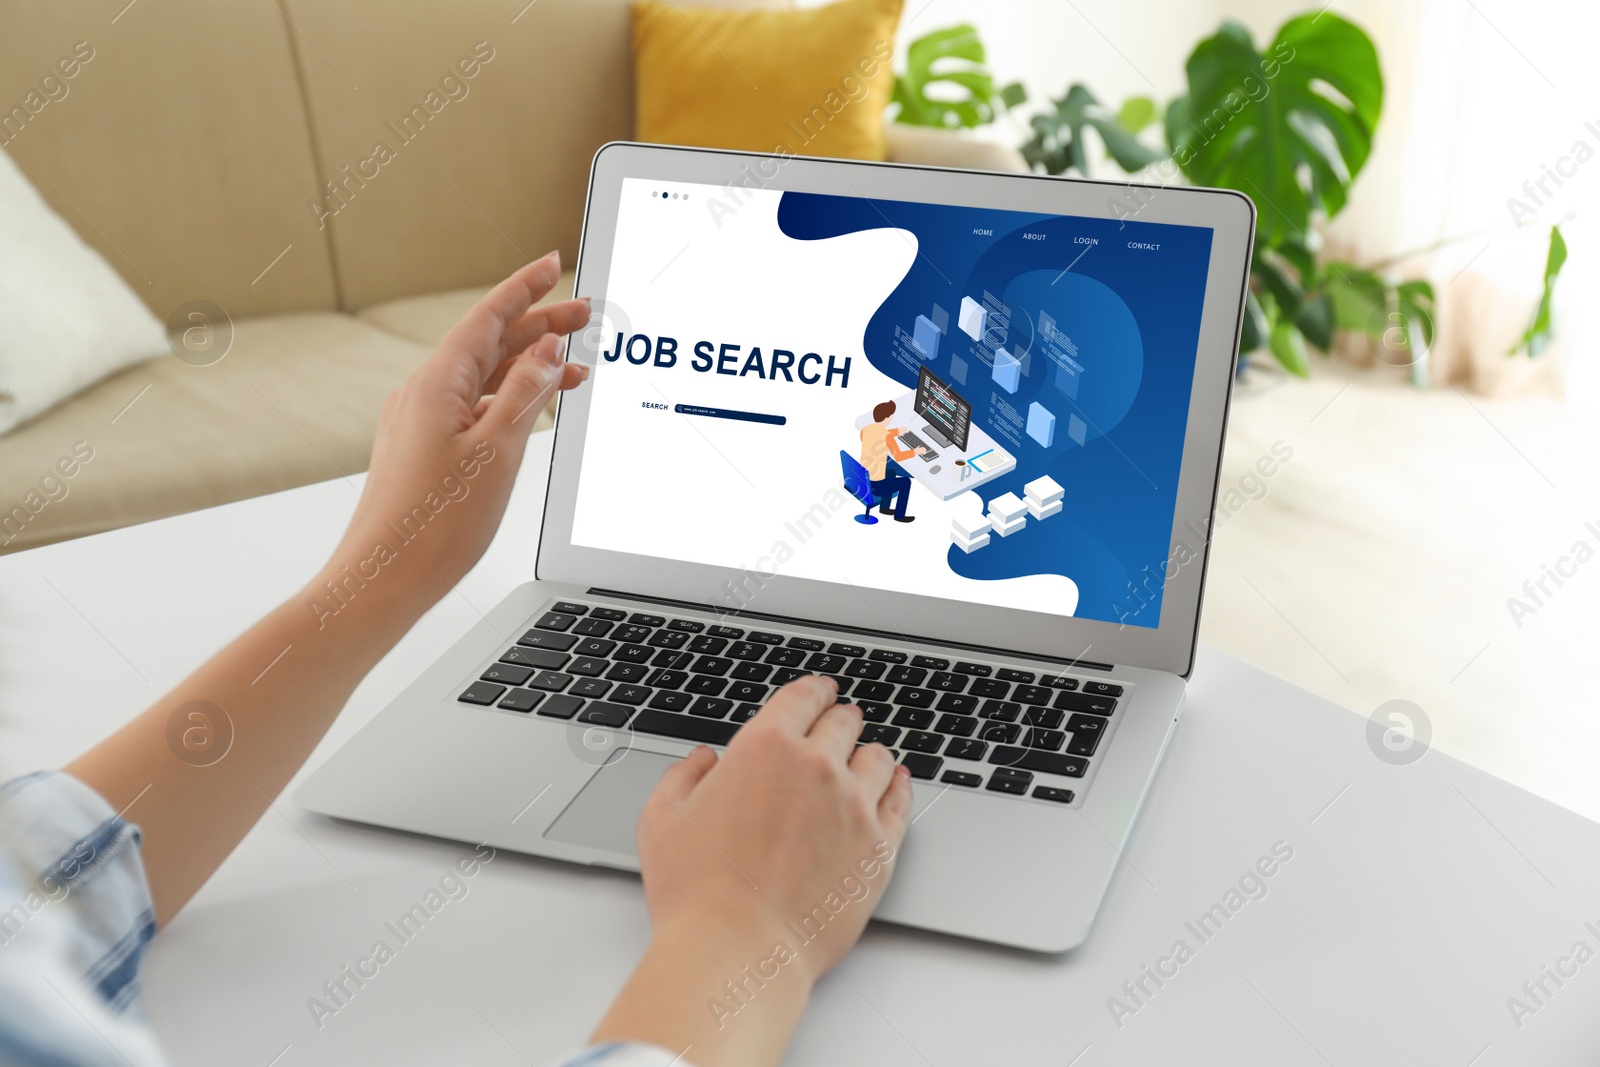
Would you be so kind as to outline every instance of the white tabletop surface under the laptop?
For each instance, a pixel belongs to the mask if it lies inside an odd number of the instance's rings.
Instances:
[[[362,683],[312,766],[531,576],[549,442],[530,446],[483,561]],[[0,558],[0,776],[59,766],[293,592],[358,488]],[[1403,766],[1378,750],[1365,718],[1202,649],[1083,947],[1042,957],[875,923],[818,987],[787,1062],[1592,1064],[1600,827],[1437,750]],[[1275,845],[1291,859],[1245,878]],[[314,1016],[323,984],[395,944],[386,923],[470,851],[280,798],[150,952],[173,1059],[514,1065],[581,1043],[646,942],[638,881],[506,853]],[[1227,920],[1198,929],[1214,905]]]

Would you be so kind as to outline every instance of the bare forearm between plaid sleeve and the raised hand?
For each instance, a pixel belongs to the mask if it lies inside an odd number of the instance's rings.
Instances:
[[[346,555],[66,768],[139,824],[158,923],[205,885],[421,614],[400,574],[336,585],[336,598],[325,582],[346,579]]]

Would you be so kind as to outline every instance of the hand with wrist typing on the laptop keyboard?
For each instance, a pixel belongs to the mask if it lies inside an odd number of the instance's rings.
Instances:
[[[653,1041],[696,1067],[781,1059],[882,899],[910,814],[909,773],[856,747],[861,710],[837,691],[797,678],[720,760],[696,749],[661,777],[638,821],[654,936],[597,1041]]]

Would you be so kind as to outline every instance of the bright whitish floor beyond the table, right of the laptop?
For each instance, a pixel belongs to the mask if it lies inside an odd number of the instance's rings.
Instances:
[[[1202,640],[1600,819],[1600,414],[1314,371],[1235,394]]]

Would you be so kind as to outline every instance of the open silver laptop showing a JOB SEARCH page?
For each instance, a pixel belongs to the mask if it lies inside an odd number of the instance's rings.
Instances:
[[[294,800],[637,870],[659,774],[829,673],[912,771],[877,918],[1072,949],[1182,709],[1253,232],[1224,190],[605,146],[533,581]]]

